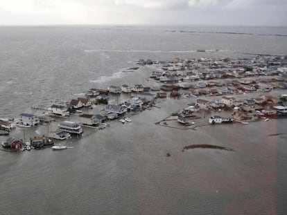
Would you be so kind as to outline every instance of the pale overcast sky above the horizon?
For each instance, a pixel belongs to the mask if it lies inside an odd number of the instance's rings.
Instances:
[[[287,0],[0,0],[0,25],[287,26]]]

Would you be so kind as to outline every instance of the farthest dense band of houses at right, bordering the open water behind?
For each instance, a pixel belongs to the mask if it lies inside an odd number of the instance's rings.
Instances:
[[[154,62],[159,68],[150,77],[162,82],[216,80],[225,78],[286,75],[286,57],[254,57],[252,59],[177,59]]]

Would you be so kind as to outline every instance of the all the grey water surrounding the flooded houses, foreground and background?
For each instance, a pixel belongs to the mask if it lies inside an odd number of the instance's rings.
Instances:
[[[286,55],[286,35],[287,28],[1,27],[0,117],[92,87],[148,84],[148,68],[121,72],[138,59]],[[286,120],[198,131],[154,124],[189,102],[166,100],[131,124],[75,140],[74,149],[0,151],[1,214],[286,214],[286,135],[268,136],[286,133]],[[182,153],[193,143],[234,151]]]

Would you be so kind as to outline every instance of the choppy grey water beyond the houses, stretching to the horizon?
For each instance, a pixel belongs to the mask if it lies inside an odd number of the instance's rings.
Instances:
[[[0,116],[70,99],[91,87],[107,87],[123,76],[121,68],[141,58],[284,55],[286,41],[287,28],[1,27]]]

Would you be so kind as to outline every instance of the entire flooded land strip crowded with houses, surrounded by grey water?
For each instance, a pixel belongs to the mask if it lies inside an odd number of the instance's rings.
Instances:
[[[8,135],[2,142],[3,149],[67,149],[59,142],[76,142],[78,138],[96,135],[101,129],[132,123],[132,118],[141,111],[154,108],[162,111],[168,100],[183,100],[186,102],[182,104],[187,104],[155,122],[168,129],[196,131],[216,124],[268,123],[287,118],[287,56],[139,59],[135,64],[123,73],[144,73],[148,86],[141,84],[142,80],[107,88],[98,88],[95,84],[86,91],[85,97],[37,104],[31,113],[1,118],[0,128],[5,130],[1,135]],[[42,129],[40,135],[35,135],[36,127],[46,127],[46,131]],[[23,136],[19,136],[15,128],[23,131]],[[231,150],[209,144],[193,144],[184,150],[193,148]]]

